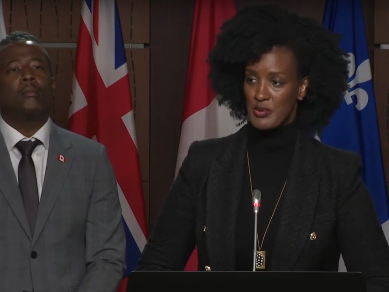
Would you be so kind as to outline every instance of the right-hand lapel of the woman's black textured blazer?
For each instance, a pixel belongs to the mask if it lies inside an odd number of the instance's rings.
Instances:
[[[299,132],[280,209],[281,220],[273,250],[276,256],[269,270],[293,270],[312,232],[320,189],[314,143],[305,133]]]

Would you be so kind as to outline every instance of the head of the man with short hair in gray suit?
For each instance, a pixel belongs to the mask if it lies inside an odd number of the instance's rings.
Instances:
[[[47,119],[54,89],[48,55],[38,44],[15,42],[0,51],[0,112],[6,122]]]

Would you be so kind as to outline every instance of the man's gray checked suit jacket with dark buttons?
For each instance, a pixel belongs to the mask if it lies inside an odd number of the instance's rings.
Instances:
[[[125,238],[106,148],[51,126],[34,234],[0,133],[0,292],[115,291]]]

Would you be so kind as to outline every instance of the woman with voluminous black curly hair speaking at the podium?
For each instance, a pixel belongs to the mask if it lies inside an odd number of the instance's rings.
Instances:
[[[253,190],[261,192],[257,268],[362,272],[389,288],[389,247],[359,157],[314,138],[347,89],[346,54],[320,24],[251,6],[221,29],[209,55],[214,91],[247,121],[190,147],[139,260],[139,270],[251,271]]]

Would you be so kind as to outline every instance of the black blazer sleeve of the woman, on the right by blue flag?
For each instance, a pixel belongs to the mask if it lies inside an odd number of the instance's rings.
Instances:
[[[389,291],[389,247],[371,195],[360,176],[359,158],[345,168],[338,194],[338,238],[347,271],[362,272],[367,292]]]

